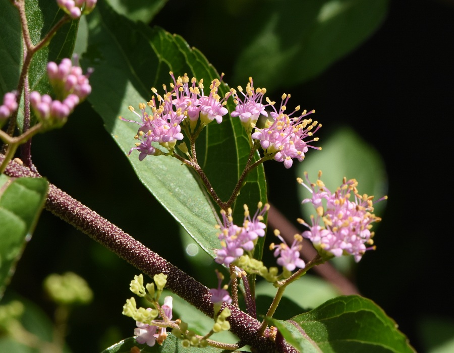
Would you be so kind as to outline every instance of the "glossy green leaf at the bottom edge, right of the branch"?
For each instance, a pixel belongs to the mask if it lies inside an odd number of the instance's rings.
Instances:
[[[288,321],[267,320],[304,352],[414,352],[396,323],[371,300],[359,296],[331,299]]]

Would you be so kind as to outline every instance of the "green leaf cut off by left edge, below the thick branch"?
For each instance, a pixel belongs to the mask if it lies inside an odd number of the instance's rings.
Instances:
[[[0,298],[30,240],[44,201],[47,181],[0,175]]]

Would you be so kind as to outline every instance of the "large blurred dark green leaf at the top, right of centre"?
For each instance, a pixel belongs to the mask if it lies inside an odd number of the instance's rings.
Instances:
[[[260,86],[275,89],[315,77],[377,30],[385,18],[387,3],[261,2],[248,21],[248,27],[256,34],[239,55],[234,81],[242,82],[242,75],[247,72]]]

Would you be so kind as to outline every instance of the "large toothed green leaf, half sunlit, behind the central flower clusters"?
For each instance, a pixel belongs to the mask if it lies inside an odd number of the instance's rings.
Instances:
[[[162,84],[168,85],[169,71],[203,78],[205,83],[219,77],[206,58],[191,49],[183,38],[160,28],[136,24],[116,14],[103,2],[87,19],[89,38],[85,65],[95,69],[90,77],[93,90],[88,99],[125,154],[134,145],[137,126],[120,121],[118,116],[134,119],[128,106],[137,107],[139,102],[148,101],[151,87],[159,89]],[[221,86],[221,90],[226,92],[228,87]],[[210,124],[197,143],[199,163],[218,195],[226,201],[246,162],[247,136],[238,120],[226,118],[220,125]],[[132,153],[130,161],[148,190],[213,256],[211,249],[219,247],[214,229],[216,208],[212,207],[192,171],[172,157],[149,156],[140,162],[137,153]],[[266,201],[263,168],[251,173],[240,199],[237,203],[241,205],[251,199],[254,203]],[[152,214],[147,208],[144,212]],[[237,212],[242,218],[242,206],[237,207]]]

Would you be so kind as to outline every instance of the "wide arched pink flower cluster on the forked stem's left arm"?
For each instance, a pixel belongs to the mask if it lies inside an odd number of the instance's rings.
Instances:
[[[136,147],[129,151],[129,154],[131,154],[133,150],[138,150],[140,152],[139,160],[143,160],[148,155],[166,153],[157,148],[156,144],[161,145],[169,152],[172,151],[176,142],[183,140],[181,124],[187,121],[187,118],[189,118],[190,128],[194,130],[199,119],[201,126],[209,124],[213,120],[216,120],[219,124],[222,122],[222,116],[228,112],[224,107],[225,99],[232,93],[227,93],[221,99],[217,94],[220,85],[219,80],[215,79],[211,82],[210,93],[205,95],[203,92],[203,80],[196,86],[195,78],[191,80],[190,85],[188,76],[185,75],[175,79],[172,72],[170,75],[174,80],[174,83],[171,84],[172,91],[167,92],[164,86],[165,94],[161,96],[155,88],[152,88],[156,98],[153,97],[146,104],[151,108],[151,114],[146,112],[146,105],[140,103],[141,114],[135,112],[132,106],[129,107],[132,112],[139,116],[140,122],[127,120],[120,116],[121,120],[136,123],[140,126],[135,136],[135,139],[139,142],[136,143]],[[156,105],[156,99],[159,102],[158,106]]]

